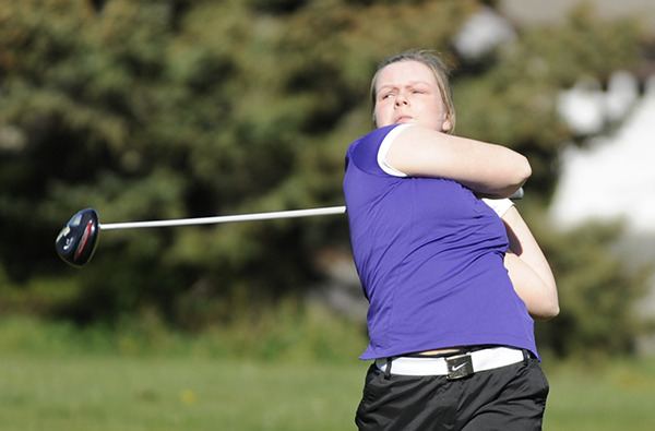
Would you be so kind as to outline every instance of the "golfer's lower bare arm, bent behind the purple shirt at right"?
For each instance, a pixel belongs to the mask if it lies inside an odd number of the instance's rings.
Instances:
[[[550,265],[539,244],[515,207],[502,216],[510,239],[505,254],[514,290],[535,319],[552,319],[559,314],[557,285]]]

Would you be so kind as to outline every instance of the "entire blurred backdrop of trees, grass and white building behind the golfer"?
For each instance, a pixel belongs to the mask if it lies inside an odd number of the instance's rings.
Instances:
[[[53,243],[84,207],[343,204],[374,67],[415,47],[452,68],[456,133],[532,164],[517,206],[561,306],[546,429],[654,429],[647,0],[0,0],[0,429],[352,429],[344,216],[107,231],[82,270]]]

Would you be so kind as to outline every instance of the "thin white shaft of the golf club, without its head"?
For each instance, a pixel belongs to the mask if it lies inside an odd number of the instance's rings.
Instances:
[[[215,225],[219,223],[235,222],[251,222],[251,220],[270,220],[276,218],[295,218],[295,217],[312,217],[320,215],[344,214],[345,206],[326,206],[322,208],[310,209],[291,209],[277,211],[270,213],[240,214],[216,217],[198,217],[198,218],[178,218],[170,220],[154,220],[154,222],[129,222],[129,223],[109,223],[100,224],[100,230],[116,229],[136,229],[146,227],[167,227],[167,226],[193,226],[193,225]]]

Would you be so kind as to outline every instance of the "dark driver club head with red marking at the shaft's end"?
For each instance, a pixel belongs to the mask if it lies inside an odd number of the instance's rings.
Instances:
[[[57,236],[57,254],[66,263],[81,267],[91,261],[98,244],[98,214],[93,208],[79,211]]]

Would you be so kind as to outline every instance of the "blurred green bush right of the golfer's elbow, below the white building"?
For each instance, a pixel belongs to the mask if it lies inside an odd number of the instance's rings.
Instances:
[[[635,335],[645,327],[634,301],[645,294],[651,270],[628,270],[608,252],[620,225],[594,223],[565,234],[548,225],[538,229],[562,304],[557,319],[537,325],[539,342],[560,357],[634,352]]]

